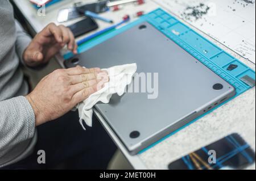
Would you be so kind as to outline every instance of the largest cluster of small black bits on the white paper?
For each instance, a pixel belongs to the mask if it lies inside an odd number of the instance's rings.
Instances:
[[[198,20],[208,14],[210,7],[200,3],[198,6],[188,6],[181,16],[186,20]]]

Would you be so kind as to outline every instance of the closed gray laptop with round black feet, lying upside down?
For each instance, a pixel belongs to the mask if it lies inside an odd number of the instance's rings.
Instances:
[[[97,110],[131,154],[147,148],[236,94],[208,69],[149,23],[142,23],[77,56],[87,68],[137,63],[138,73],[158,73],[158,97],[113,95]],[[65,63],[75,66],[76,59]],[[148,78],[148,77],[147,77]],[[154,87],[154,85],[152,85]]]

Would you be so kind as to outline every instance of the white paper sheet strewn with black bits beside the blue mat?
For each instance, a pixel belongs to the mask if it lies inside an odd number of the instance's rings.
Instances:
[[[154,0],[255,64],[255,0]]]

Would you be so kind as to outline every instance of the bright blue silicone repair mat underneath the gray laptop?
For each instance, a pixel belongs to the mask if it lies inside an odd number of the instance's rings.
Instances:
[[[233,56],[230,56],[230,54],[226,53],[224,50],[217,47],[216,45],[211,43],[209,40],[199,35],[199,33],[193,31],[184,23],[181,23],[179,20],[177,20],[176,18],[168,14],[166,11],[163,11],[162,9],[156,9],[155,11],[152,11],[149,14],[142,16],[135,22],[129,23],[126,26],[119,28],[118,30],[106,33],[103,36],[96,37],[95,39],[80,45],[78,52],[79,53],[85,52],[86,50],[118,35],[119,33],[129,30],[129,28],[132,28],[138,25],[139,23],[142,23],[145,21],[152,24],[152,26],[154,26],[156,29],[158,29],[160,32],[162,32],[171,40],[175,41],[176,44],[178,44],[180,47],[185,49],[188,53],[192,54],[192,56],[197,58],[197,60],[201,61],[209,69],[213,70],[217,75],[219,75],[220,77],[225,79],[225,81],[233,85],[233,87],[236,88],[236,92],[237,92],[236,96],[242,94],[246,90],[249,90],[251,87],[255,86],[254,70],[250,69],[248,66],[246,66],[241,61],[234,58]],[[72,53],[67,53],[64,55],[65,60],[68,60],[69,58],[72,58],[72,57],[73,57]],[[226,102],[228,101],[229,100],[227,100]],[[220,106],[222,106],[222,104]],[[200,119],[203,116],[204,115],[191,121],[191,123]],[[183,128],[180,128],[180,129],[183,129]],[[168,136],[171,136],[174,133],[171,133]],[[158,142],[156,142],[156,144]]]

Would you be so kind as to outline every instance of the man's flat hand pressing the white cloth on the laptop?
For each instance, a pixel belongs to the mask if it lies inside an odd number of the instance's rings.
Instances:
[[[26,96],[34,110],[36,126],[63,116],[76,104],[101,89],[102,86],[98,85],[102,81],[109,81],[105,71],[81,66],[58,69],[44,77]]]

